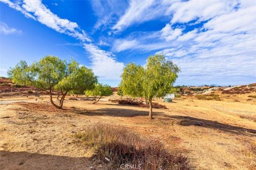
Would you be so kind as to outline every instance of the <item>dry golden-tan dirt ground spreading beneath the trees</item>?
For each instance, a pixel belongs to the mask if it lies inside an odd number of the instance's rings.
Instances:
[[[33,102],[7,103],[10,100]],[[256,169],[256,155],[248,149],[249,142],[256,141],[256,122],[213,108],[255,112],[255,104],[156,100],[168,109],[153,109],[150,121],[147,108],[118,105],[108,98],[93,105],[67,97],[65,110],[55,109],[47,96],[34,101],[0,100],[0,169],[104,169],[93,162],[88,149],[72,142],[76,132],[97,122],[161,140],[170,152],[187,155],[195,169]]]

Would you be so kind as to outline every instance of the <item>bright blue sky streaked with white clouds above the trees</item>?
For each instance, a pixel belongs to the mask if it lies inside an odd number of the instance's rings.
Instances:
[[[0,0],[0,76],[55,55],[117,86],[123,67],[164,54],[176,85],[256,82],[256,1]]]

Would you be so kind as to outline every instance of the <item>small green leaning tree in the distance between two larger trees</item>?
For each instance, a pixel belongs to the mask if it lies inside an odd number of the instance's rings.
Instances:
[[[94,101],[93,104],[98,103],[98,101],[103,97],[103,96],[110,96],[113,94],[113,91],[111,90],[111,87],[108,86],[107,84],[95,84],[95,87],[92,90],[86,90],[85,95],[87,96],[93,96]],[[97,96],[99,96],[97,100]]]

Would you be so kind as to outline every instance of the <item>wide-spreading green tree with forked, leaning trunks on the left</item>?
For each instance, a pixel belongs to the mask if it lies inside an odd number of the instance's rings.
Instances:
[[[8,74],[14,83],[34,86],[48,92],[51,104],[60,109],[69,91],[92,89],[98,82],[91,69],[79,67],[74,60],[66,62],[50,55],[31,65],[20,61]],[[55,104],[52,99],[54,91],[61,96],[59,104]]]

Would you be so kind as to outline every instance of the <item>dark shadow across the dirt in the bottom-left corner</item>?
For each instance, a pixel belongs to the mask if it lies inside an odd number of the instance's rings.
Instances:
[[[90,158],[0,151],[0,169],[90,169]]]

